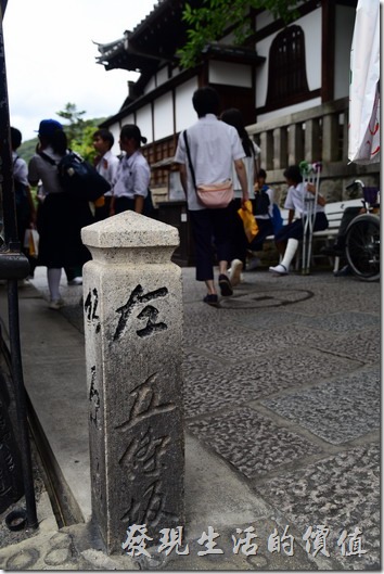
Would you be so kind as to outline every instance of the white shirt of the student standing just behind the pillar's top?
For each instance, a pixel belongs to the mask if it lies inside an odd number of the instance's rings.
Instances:
[[[138,150],[132,155],[125,155],[119,161],[113,183],[113,195],[130,200],[133,200],[136,195],[146,197],[150,180],[150,166]]]

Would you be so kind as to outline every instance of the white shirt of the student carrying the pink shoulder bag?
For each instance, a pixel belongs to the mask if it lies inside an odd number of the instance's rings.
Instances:
[[[238,130],[214,114],[207,114],[187,130],[196,184],[219,183],[232,178],[232,165],[245,154]],[[183,132],[179,136],[175,162],[187,166],[187,200],[191,211],[206,209],[193,184]]]

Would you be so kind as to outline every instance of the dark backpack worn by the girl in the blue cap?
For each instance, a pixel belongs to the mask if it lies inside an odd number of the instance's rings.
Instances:
[[[106,179],[76,152],[68,150],[59,164],[43,152],[39,152],[39,155],[51,165],[57,166],[63,189],[79,200],[94,202],[111,189]]]

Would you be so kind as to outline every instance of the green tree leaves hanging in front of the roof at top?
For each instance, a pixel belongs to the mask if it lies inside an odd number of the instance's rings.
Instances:
[[[229,26],[234,26],[234,43],[243,44],[254,33],[251,9],[267,10],[274,20],[289,24],[297,17],[296,5],[297,0],[203,0],[201,8],[187,2],[182,20],[189,26],[188,41],[178,52],[181,67],[196,65],[205,46],[222,38]]]

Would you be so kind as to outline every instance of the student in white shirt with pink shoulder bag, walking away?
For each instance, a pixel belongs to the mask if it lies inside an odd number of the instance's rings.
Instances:
[[[232,126],[219,122],[219,95],[208,86],[199,88],[192,98],[197,122],[187,130],[191,163],[195,173],[196,186],[225,182],[232,177],[232,165],[236,170],[242,201],[248,199],[248,187],[243,146]],[[195,245],[196,280],[204,281],[207,294],[204,303],[218,306],[218,295],[214,281],[213,239],[219,264],[219,288],[222,296],[233,294],[227,275],[228,262],[232,255],[231,214],[233,207],[206,208],[197,199],[192,173],[189,166],[183,133],[180,133],[175,162],[180,164],[180,179],[184,190]]]

